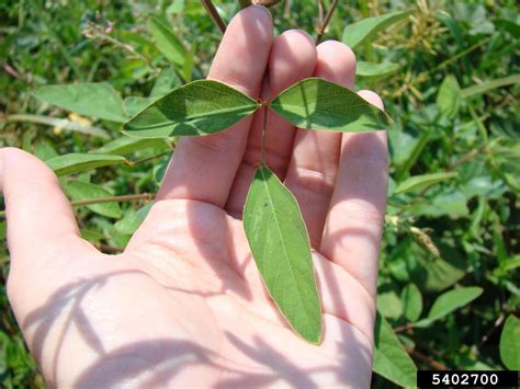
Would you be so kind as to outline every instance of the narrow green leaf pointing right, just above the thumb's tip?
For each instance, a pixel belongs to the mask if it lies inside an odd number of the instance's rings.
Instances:
[[[52,158],[45,161],[45,163],[57,175],[66,175],[111,164],[121,164],[125,161],[120,156],[70,153]]]

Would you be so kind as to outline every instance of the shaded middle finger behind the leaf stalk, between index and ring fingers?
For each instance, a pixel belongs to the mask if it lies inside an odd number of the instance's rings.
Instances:
[[[308,34],[291,30],[273,43],[269,59],[269,91],[273,98],[301,79],[310,77],[316,66],[316,47]],[[295,128],[271,110],[268,112],[265,159],[268,165],[283,180],[293,148]],[[263,112],[255,115],[244,159],[226,204],[227,211],[240,217],[256,167],[261,160]]]

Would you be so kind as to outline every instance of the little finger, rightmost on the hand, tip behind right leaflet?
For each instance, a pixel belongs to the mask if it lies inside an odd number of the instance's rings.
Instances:
[[[359,93],[383,108],[377,94]],[[321,253],[375,295],[388,181],[386,131],[343,134]]]

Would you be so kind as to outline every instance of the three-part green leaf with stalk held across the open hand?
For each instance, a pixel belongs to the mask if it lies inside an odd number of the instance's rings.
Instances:
[[[222,82],[197,80],[174,89],[125,123],[138,138],[205,136],[228,129],[263,110],[263,145],[244,208],[244,228],[265,286],[294,331],[306,341],[321,339],[321,308],[310,244],[298,205],[265,160],[268,110],[312,130],[372,131],[389,116],[355,92],[318,78],[302,80],[268,101],[255,101]]]

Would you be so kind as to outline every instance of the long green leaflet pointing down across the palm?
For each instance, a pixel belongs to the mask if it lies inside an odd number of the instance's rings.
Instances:
[[[318,344],[321,308],[307,229],[296,199],[265,167],[255,174],[244,228],[274,304],[296,333]]]

